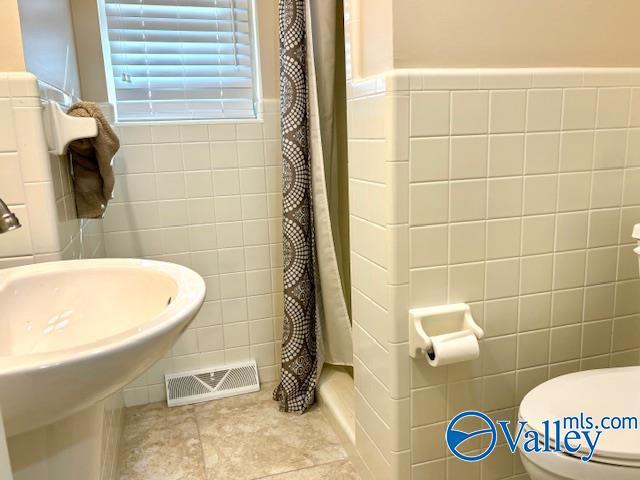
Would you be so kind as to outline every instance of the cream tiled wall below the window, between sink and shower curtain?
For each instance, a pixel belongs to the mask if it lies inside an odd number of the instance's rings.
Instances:
[[[277,102],[237,124],[120,124],[116,192],[104,218],[108,257],[193,268],[205,304],[165,358],[125,388],[127,405],[164,398],[164,374],[254,358],[278,372],[282,187]]]

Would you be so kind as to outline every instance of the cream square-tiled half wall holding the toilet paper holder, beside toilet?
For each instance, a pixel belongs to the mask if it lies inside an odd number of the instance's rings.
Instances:
[[[512,419],[548,378],[638,364],[639,85],[632,69],[349,85],[356,446],[372,477],[524,479],[503,447],[450,457],[447,419]],[[407,310],[459,301],[485,328],[480,359],[410,360]]]

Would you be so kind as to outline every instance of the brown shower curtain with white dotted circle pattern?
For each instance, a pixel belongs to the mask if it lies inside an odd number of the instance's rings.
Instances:
[[[280,0],[284,328],[280,409],[313,404],[318,375],[305,0]]]

